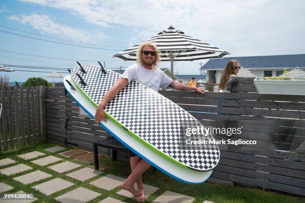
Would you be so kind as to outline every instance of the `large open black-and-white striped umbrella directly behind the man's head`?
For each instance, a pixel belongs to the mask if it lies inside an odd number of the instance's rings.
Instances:
[[[159,51],[162,61],[171,61],[171,72],[173,73],[173,61],[193,61],[211,58],[222,58],[230,54],[199,39],[184,34],[170,25],[166,30],[159,32],[156,36],[143,41],[154,43]],[[138,43],[124,51],[115,54],[123,60],[137,60],[136,52],[143,42]]]

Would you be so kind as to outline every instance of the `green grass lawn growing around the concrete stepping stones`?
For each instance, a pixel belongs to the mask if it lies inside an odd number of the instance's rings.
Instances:
[[[120,176],[123,178],[127,178],[131,172],[130,167],[127,163],[122,162],[113,162],[111,159],[104,157],[100,159],[100,167],[103,168],[103,174],[96,176],[92,179],[89,179],[85,182],[77,181],[75,179],[72,179],[70,177],[65,176],[68,173],[71,173],[73,171],[77,171],[81,168],[77,168],[75,170],[68,171],[66,173],[59,174],[57,172],[54,172],[50,169],[48,169],[48,166],[38,166],[30,161],[32,160],[23,160],[17,157],[17,155],[24,154],[31,151],[39,151],[44,154],[45,156],[53,155],[55,157],[59,157],[63,159],[61,162],[64,161],[71,161],[76,164],[82,165],[83,167],[90,167],[94,168],[94,163],[92,164],[85,164],[79,161],[76,161],[74,159],[66,158],[63,156],[58,155],[57,153],[50,153],[47,151],[44,151],[44,148],[52,147],[52,144],[49,143],[42,143],[39,145],[34,145],[32,147],[27,147],[21,150],[13,150],[8,152],[0,153],[0,159],[4,158],[10,158],[18,162],[18,164],[26,164],[27,166],[32,167],[33,169],[30,171],[22,172],[17,175],[12,176],[4,176],[0,174],[0,182],[3,182],[5,184],[8,184],[12,186],[14,189],[11,191],[8,191],[8,193],[15,193],[18,191],[24,191],[26,193],[33,193],[34,197],[38,200],[35,201],[35,203],[56,203],[54,200],[55,197],[61,196],[69,191],[72,191],[78,187],[84,187],[89,190],[98,192],[101,194],[98,198],[94,199],[90,203],[98,203],[101,200],[105,199],[106,197],[112,197],[118,200],[121,200],[123,202],[128,203],[135,203],[134,200],[117,195],[116,193],[121,190],[121,188],[116,188],[112,191],[106,191],[99,189],[95,186],[89,185],[94,180],[97,180],[107,174],[112,174],[116,176]],[[68,151],[69,148],[67,148],[65,151]],[[43,156],[43,157],[45,157]],[[35,158],[35,159],[40,159]],[[35,160],[33,159],[33,160]],[[58,164],[60,162],[57,162]],[[17,163],[12,164],[17,165]],[[0,169],[12,166],[2,166]],[[54,164],[50,164],[54,165]],[[21,176],[36,170],[43,171],[45,173],[51,174],[53,177],[50,177],[48,179],[44,179],[38,182],[34,182],[32,184],[23,185],[17,181],[14,181],[12,178]],[[63,180],[69,181],[75,185],[73,185],[70,188],[67,188],[65,190],[59,191],[55,194],[52,194],[50,196],[45,196],[40,192],[35,191],[32,189],[32,186],[38,185],[40,183],[49,181],[54,178],[61,178]],[[305,197],[298,196],[298,195],[291,195],[291,194],[285,194],[280,192],[271,192],[271,191],[263,191],[261,189],[254,189],[254,188],[245,188],[245,187],[239,187],[239,186],[229,186],[229,185],[217,185],[217,184],[211,184],[211,183],[204,183],[200,185],[188,185],[181,183],[179,181],[176,181],[169,176],[161,173],[160,171],[153,172],[152,169],[148,170],[143,177],[144,183],[147,185],[151,185],[154,187],[159,188],[154,194],[152,194],[148,199],[147,202],[152,202],[154,199],[156,199],[158,196],[160,196],[165,191],[171,191],[187,196],[191,196],[195,198],[194,203],[202,203],[204,200],[215,202],[215,203],[305,203]],[[0,194],[0,197],[2,197],[3,194]]]

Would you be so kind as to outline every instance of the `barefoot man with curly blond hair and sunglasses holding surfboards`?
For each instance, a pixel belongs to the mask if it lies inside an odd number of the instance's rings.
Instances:
[[[106,121],[104,108],[123,88],[125,88],[132,80],[137,80],[154,91],[158,91],[160,86],[169,86],[177,90],[196,91],[204,94],[204,92],[196,86],[188,86],[170,79],[165,73],[157,68],[160,61],[159,51],[152,43],[143,43],[139,46],[137,52],[138,60],[136,64],[129,66],[120,79],[105,94],[100,101],[95,114],[95,122],[99,124],[103,119]],[[157,108],[157,107],[156,107]],[[142,174],[151,166],[145,160],[131,153],[130,165],[132,169],[131,175],[122,183],[122,188],[131,192],[137,202],[144,202],[145,195],[143,190]],[[137,183],[137,189],[134,183]]]

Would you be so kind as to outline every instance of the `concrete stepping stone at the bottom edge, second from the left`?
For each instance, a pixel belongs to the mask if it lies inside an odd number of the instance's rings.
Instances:
[[[55,198],[55,200],[61,203],[87,203],[100,195],[97,192],[80,187]]]

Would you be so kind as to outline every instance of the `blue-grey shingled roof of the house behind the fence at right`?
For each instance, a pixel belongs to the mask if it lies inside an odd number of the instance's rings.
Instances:
[[[229,60],[239,60],[244,68],[292,68],[305,67],[305,54],[274,56],[243,56],[210,59],[200,70],[223,69]]]

